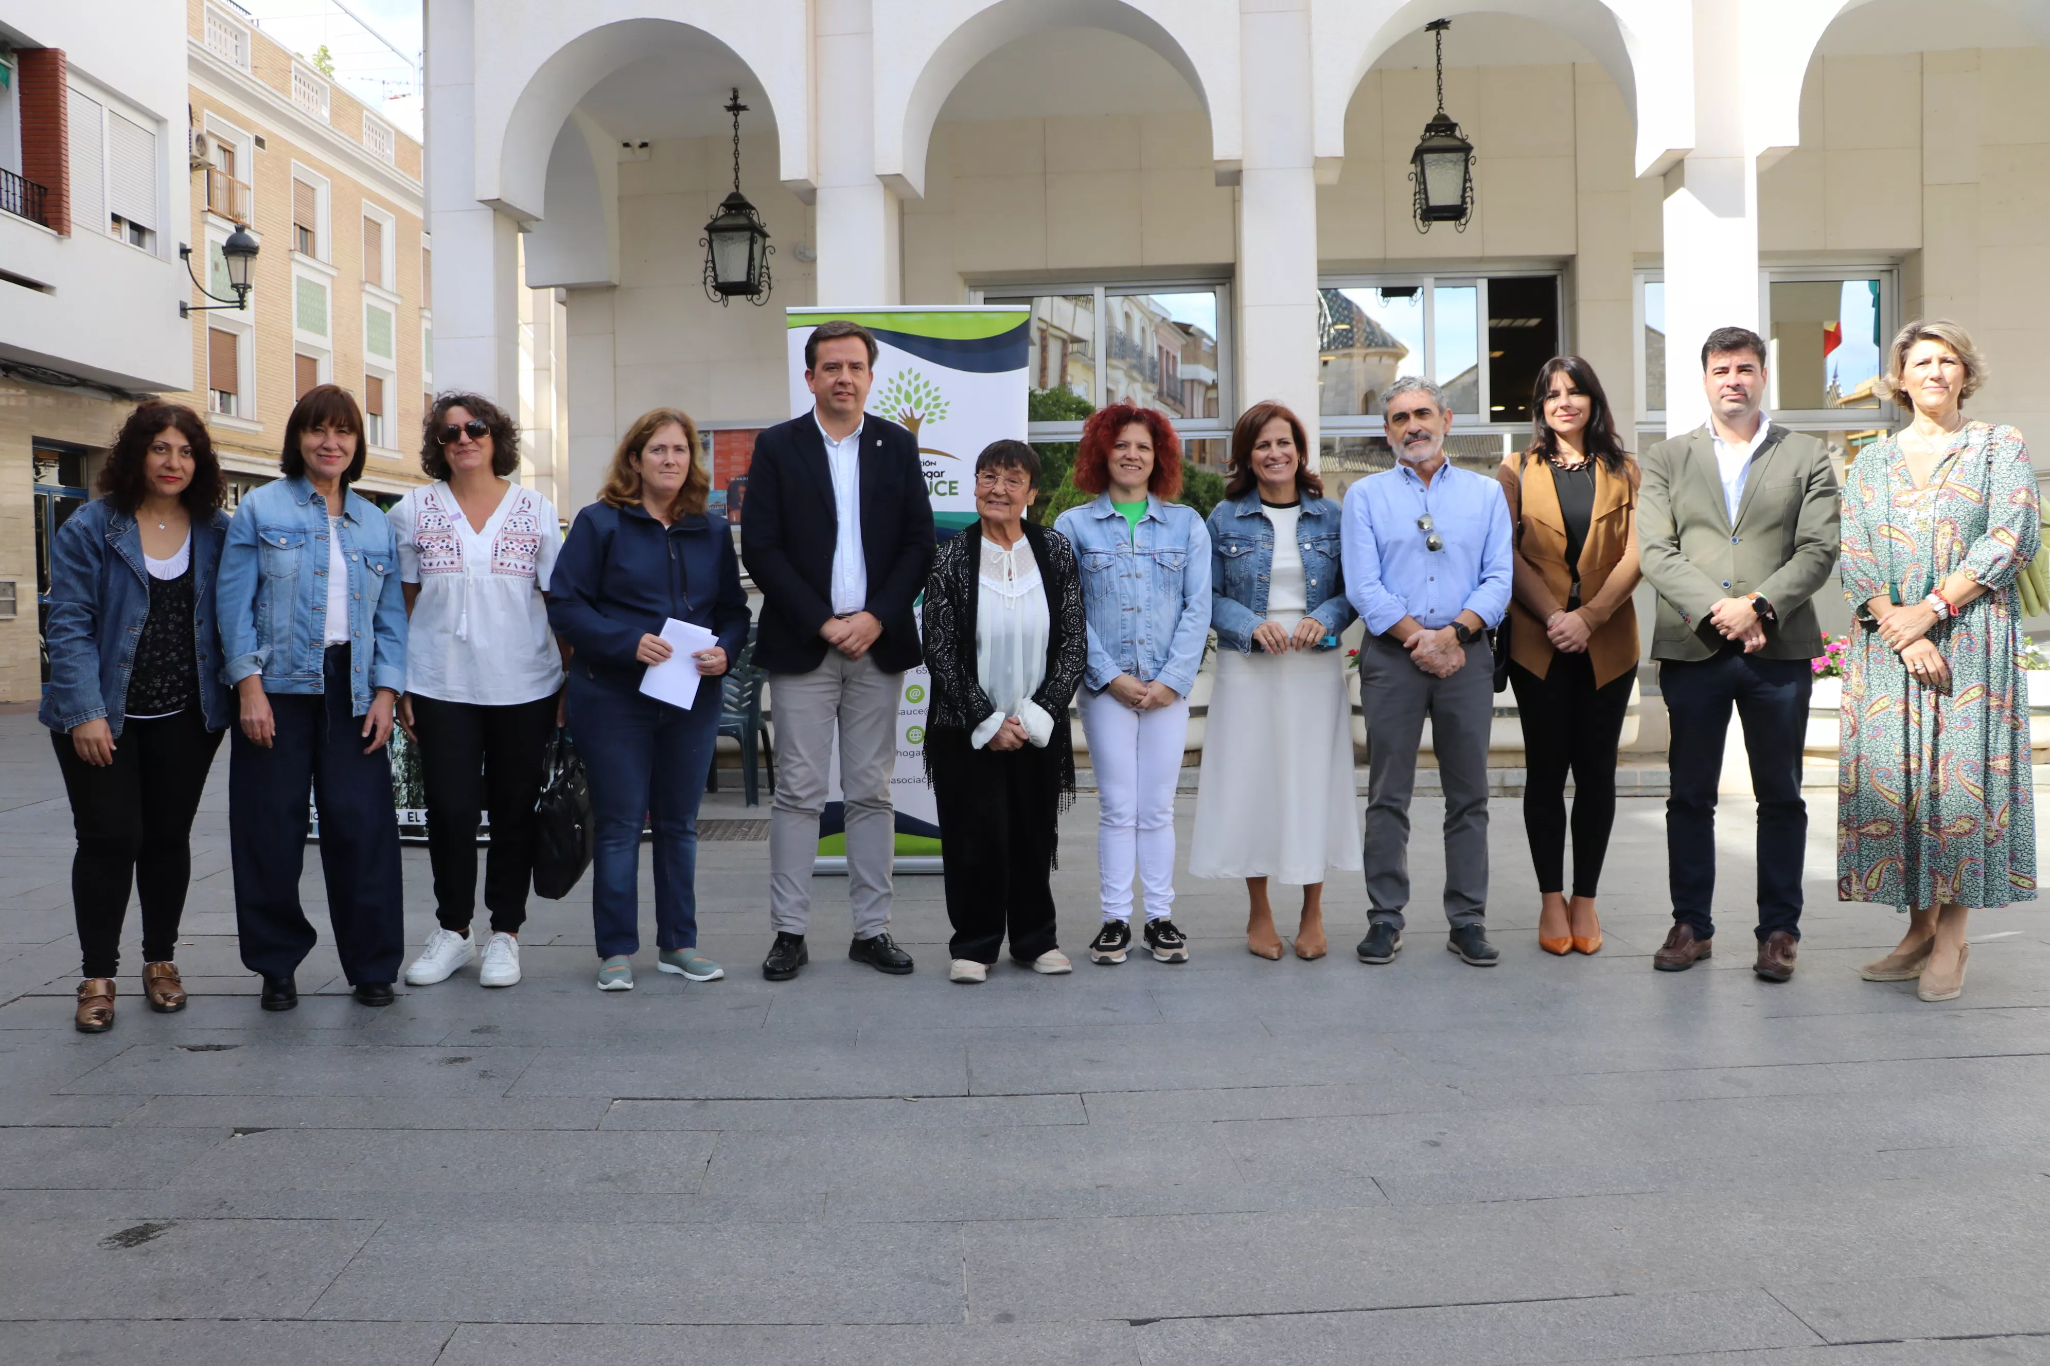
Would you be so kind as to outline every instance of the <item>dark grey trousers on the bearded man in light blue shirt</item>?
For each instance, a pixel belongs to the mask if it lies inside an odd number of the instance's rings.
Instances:
[[[1445,786],[1445,920],[1478,926],[1488,907],[1488,727],[1494,659],[1486,637],[1466,668],[1433,678],[1378,635],[1359,647],[1359,702],[1367,715],[1367,920],[1402,928],[1408,905],[1408,803],[1425,717]]]

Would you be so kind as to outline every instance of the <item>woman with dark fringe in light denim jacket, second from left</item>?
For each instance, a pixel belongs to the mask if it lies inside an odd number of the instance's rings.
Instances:
[[[318,940],[299,905],[312,786],[342,975],[365,1006],[389,1006],[404,934],[385,739],[406,688],[406,600],[392,524],[348,492],[363,412],[346,389],[308,389],[279,469],[236,508],[215,598],[240,711],[228,844],[242,965],[262,975],[264,1010],[299,1004],[293,973]]]

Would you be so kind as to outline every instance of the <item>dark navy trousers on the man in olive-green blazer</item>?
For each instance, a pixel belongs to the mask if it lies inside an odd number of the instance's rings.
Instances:
[[[1697,938],[1716,932],[1716,788],[1730,707],[1745,725],[1751,791],[1759,799],[1759,940],[1773,930],[1800,938],[1800,874],[1808,854],[1808,805],[1800,754],[1808,733],[1814,670],[1806,659],[1765,659],[1734,647],[1701,661],[1658,661],[1658,690],[1673,719],[1673,795],[1667,797],[1667,877],[1673,920]]]

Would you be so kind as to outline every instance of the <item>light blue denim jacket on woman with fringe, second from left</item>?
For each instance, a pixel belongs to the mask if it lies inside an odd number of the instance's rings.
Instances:
[[[348,698],[355,715],[371,692],[406,690],[406,598],[398,584],[398,539],[367,498],[342,496],[342,559],[348,569]],[[262,674],[264,692],[324,692],[328,621],[328,504],[301,477],[242,496],[228,526],[215,596],[230,686]]]

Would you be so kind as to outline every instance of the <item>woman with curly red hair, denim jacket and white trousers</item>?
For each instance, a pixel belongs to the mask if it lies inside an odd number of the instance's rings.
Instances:
[[[1097,500],[1056,528],[1082,565],[1089,672],[1076,707],[1097,770],[1103,932],[1093,963],[1132,948],[1132,879],[1146,889],[1146,948],[1187,963],[1175,909],[1175,780],[1189,737],[1189,688],[1210,635],[1210,537],[1181,504],[1181,440],[1152,408],[1111,403],[1082,426],[1074,485]]]

